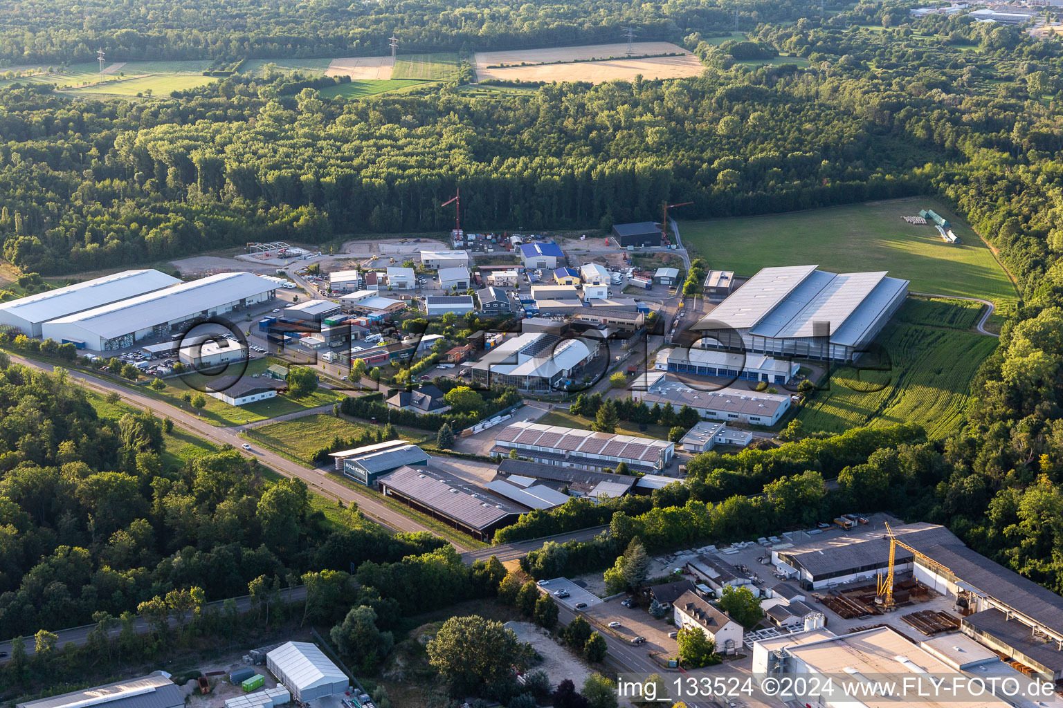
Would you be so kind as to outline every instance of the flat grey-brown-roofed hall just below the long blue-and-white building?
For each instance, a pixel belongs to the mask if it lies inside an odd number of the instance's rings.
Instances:
[[[732,387],[714,391],[691,388],[678,381],[670,381],[667,375],[659,372],[648,374],[645,379],[648,384],[645,391],[631,391],[635,400],[644,401],[649,408],[672,403],[678,410],[689,405],[709,420],[774,426],[790,410],[788,395]]]

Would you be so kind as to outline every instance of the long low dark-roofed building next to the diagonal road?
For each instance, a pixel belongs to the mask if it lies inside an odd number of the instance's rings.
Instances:
[[[400,467],[376,481],[381,494],[488,540],[527,508],[483,487],[427,469]]]

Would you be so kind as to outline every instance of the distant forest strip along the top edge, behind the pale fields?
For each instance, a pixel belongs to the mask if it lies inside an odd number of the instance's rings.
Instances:
[[[809,0],[671,0],[667,3],[446,0],[19,0],[0,15],[0,61],[11,65],[96,59],[236,61],[386,54],[387,38],[406,51],[516,49],[614,42],[621,28],[640,39],[795,20],[844,3]],[[3,65],[0,64],[0,67]]]

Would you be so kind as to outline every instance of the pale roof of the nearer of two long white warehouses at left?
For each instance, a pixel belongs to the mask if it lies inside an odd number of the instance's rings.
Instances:
[[[276,290],[276,286],[251,273],[219,273],[53,320],[50,324],[75,325],[106,340],[165,322],[185,320],[219,305],[271,290]]]

